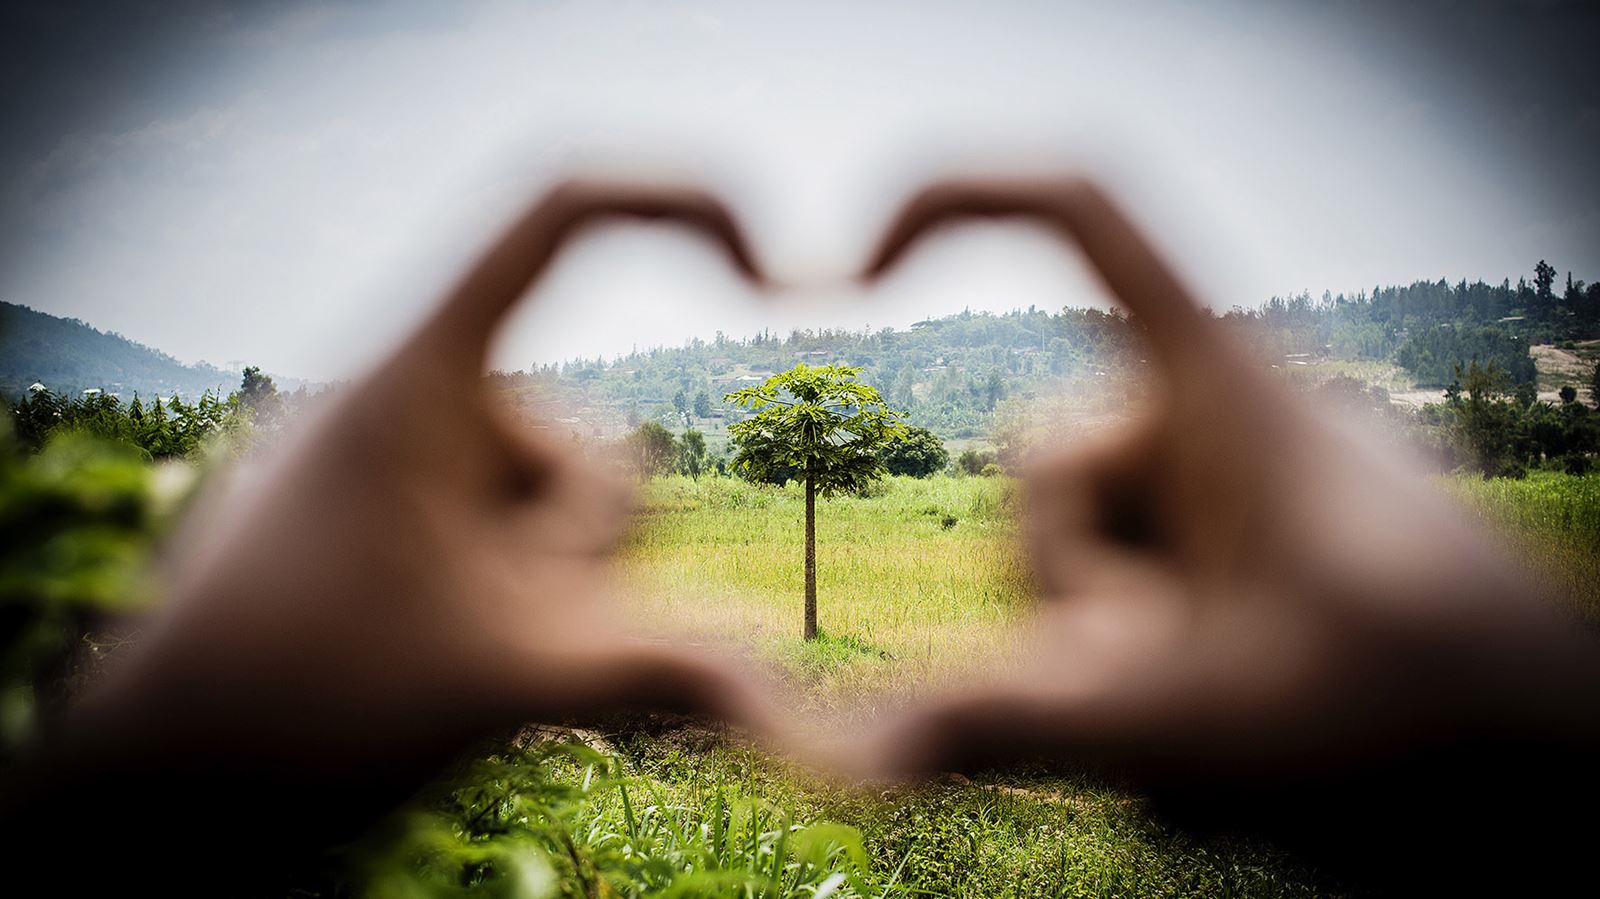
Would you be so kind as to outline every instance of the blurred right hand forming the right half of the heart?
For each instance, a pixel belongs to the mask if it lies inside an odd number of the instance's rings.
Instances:
[[[1022,673],[885,723],[864,773],[1045,755],[1114,766],[1210,817],[1278,803],[1333,825],[1347,811],[1413,821],[1416,766],[1445,776],[1507,745],[1594,745],[1594,643],[1421,477],[1235,349],[1091,184],[931,187],[864,277],[974,216],[1077,242],[1142,323],[1163,390],[1027,475],[1045,605]],[[1435,792],[1461,790],[1445,777]],[[1374,795],[1400,808],[1349,808]]]

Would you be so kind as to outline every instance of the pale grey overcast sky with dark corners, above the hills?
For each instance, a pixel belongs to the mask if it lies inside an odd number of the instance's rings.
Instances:
[[[1090,173],[1219,309],[1538,259],[1597,280],[1595,6],[13,3],[0,299],[184,362],[347,378],[574,171],[710,186],[790,288],[757,298],[670,229],[598,230],[499,366],[1109,302],[1024,227],[853,286],[941,173]]]

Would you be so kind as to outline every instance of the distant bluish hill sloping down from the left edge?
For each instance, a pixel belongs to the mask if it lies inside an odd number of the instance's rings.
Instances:
[[[58,394],[99,387],[122,397],[198,397],[227,394],[238,373],[176,358],[110,334],[77,318],[46,315],[26,306],[0,302],[0,394],[19,397],[42,382]]]

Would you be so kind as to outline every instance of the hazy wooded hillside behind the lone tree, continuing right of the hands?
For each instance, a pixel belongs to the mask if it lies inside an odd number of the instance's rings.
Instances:
[[[1262,366],[1304,381],[1350,373],[1371,381],[1382,370],[1389,390],[1427,387],[1442,397],[1456,366],[1493,365],[1512,382],[1539,379],[1530,347],[1570,365],[1546,374],[1552,402],[1563,384],[1587,384],[1587,349],[1600,338],[1600,286],[1574,282],[1565,293],[1526,282],[1416,282],[1371,293],[1274,298],[1229,310],[1221,323],[1251,347]],[[962,445],[992,438],[997,416],[1042,397],[1126,394],[1126,376],[1142,355],[1136,320],[1093,309],[962,312],[917,322],[907,331],[762,333],[749,339],[717,334],[682,347],[637,350],[614,360],[571,360],[558,366],[498,373],[530,411],[555,419],[579,437],[608,437],[642,421],[693,424],[717,450],[730,421],[742,413],[723,395],[755,384],[797,362],[862,368],[862,381],[928,427]],[[1558,382],[1557,382],[1558,381]],[[1093,411],[1093,410],[1091,410]]]

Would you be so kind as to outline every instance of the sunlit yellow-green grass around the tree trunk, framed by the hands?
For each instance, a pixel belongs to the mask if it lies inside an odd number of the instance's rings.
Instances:
[[[800,645],[803,496],[733,478],[661,478],[624,550],[630,619],[744,648],[838,710],[864,691],[934,686],[1005,664],[1032,605],[1008,478],[890,478],[818,502],[818,622]],[[858,651],[859,649],[859,651]]]

